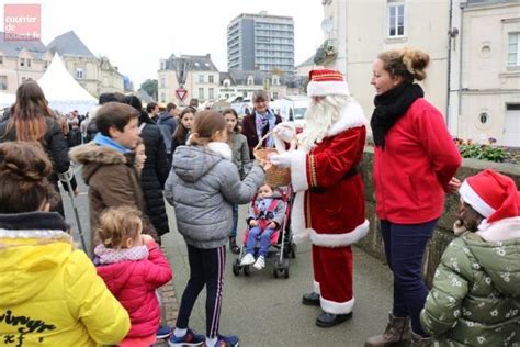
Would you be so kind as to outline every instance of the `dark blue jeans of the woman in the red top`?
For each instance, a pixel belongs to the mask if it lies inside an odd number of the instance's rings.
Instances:
[[[394,305],[396,317],[410,317],[411,329],[421,336],[419,315],[425,306],[428,288],[422,281],[422,257],[438,220],[420,224],[396,224],[381,221],[388,266],[394,272]]]

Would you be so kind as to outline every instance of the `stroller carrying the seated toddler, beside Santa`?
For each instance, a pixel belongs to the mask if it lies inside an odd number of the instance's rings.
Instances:
[[[275,278],[289,278],[289,258],[296,258],[296,245],[293,242],[291,234],[291,205],[293,191],[291,186],[281,187],[280,189],[281,200],[285,204],[285,217],[283,219],[282,225],[271,235],[270,249],[267,258],[274,257],[273,276]],[[255,199],[251,204],[255,204]],[[242,243],[240,245],[240,253],[238,258],[233,262],[233,273],[239,276],[240,271],[244,271],[245,276],[251,275],[250,265],[240,265],[240,259],[246,254],[246,243],[249,236],[249,227],[244,233]],[[255,256],[258,256],[258,245],[255,247]]]

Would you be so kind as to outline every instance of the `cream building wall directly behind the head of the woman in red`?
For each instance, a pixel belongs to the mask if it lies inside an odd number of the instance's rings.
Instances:
[[[422,83],[426,98],[442,113],[448,98],[446,0],[323,0],[325,32],[316,52],[317,65],[343,72],[352,94],[366,116],[375,96],[370,85],[372,61],[377,54],[403,46],[417,47],[430,55],[428,78]]]

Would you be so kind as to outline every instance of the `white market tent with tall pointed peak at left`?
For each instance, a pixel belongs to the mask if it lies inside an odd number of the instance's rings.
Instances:
[[[53,110],[63,113],[78,110],[80,114],[84,114],[98,104],[98,100],[70,76],[57,54],[39,78],[38,85]]]

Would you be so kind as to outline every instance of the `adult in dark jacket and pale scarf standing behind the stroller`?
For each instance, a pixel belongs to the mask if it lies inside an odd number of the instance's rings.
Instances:
[[[274,112],[269,109],[269,94],[264,90],[255,91],[252,94],[255,110],[242,120],[242,134],[247,137],[249,157],[251,159],[255,159],[252,152],[260,138],[271,132],[278,123],[282,122],[280,115],[274,114]],[[262,143],[262,147],[274,147],[273,137],[269,136],[265,138]]]

